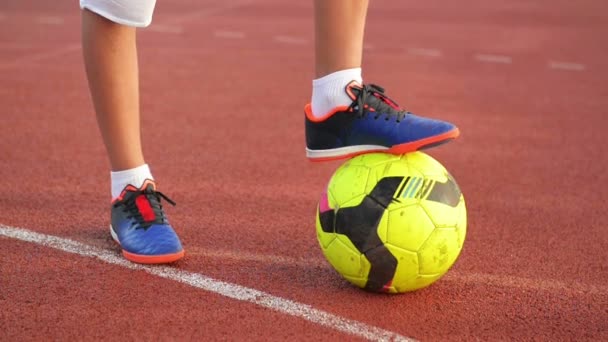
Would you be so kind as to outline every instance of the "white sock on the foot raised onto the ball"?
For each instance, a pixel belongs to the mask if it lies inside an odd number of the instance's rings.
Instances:
[[[363,84],[361,68],[336,71],[312,81],[312,114],[320,118],[338,106],[349,106],[353,100],[344,90],[351,81]]]

